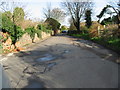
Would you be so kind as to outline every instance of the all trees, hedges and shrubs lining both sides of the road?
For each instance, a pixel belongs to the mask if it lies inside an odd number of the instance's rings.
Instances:
[[[83,0],[84,1],[84,0]],[[16,47],[16,42],[24,34],[29,34],[32,42],[34,43],[35,35],[41,38],[42,32],[50,33],[54,32],[54,35],[59,30],[68,30],[68,35],[83,38],[86,40],[92,40],[105,47],[111,48],[117,52],[120,52],[120,4],[115,2],[115,5],[106,5],[99,15],[96,17],[98,21],[92,21],[92,11],[94,3],[88,0],[87,2],[62,2],[64,6],[64,12],[60,8],[51,8],[49,4],[46,8],[43,8],[43,14],[45,16],[44,21],[33,21],[27,19],[26,12],[22,6],[14,5],[11,2],[11,7],[8,8],[9,2],[1,2],[0,19],[2,20],[2,26],[0,27],[0,49],[2,43],[7,39],[12,39],[12,44]],[[14,7],[16,6],[16,7]],[[12,8],[12,10],[10,10]],[[62,20],[66,15],[70,15],[69,28],[61,26]],[[108,17],[105,18],[104,16]],[[84,19],[84,22],[83,22]]]

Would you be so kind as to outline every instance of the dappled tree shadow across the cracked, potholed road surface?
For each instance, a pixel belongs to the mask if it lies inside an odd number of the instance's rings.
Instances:
[[[24,88],[32,88],[32,87],[45,88],[45,83],[42,82],[40,80],[40,77],[38,78],[37,75],[44,74],[46,71],[50,71],[55,65],[59,64],[58,59],[59,60],[65,59],[66,57],[64,57],[64,54],[69,53],[69,51],[67,50],[70,50],[72,47],[82,48],[81,46],[78,45],[56,44],[52,46],[46,45],[46,48],[44,49],[36,48],[34,50],[20,51],[19,53],[14,54],[16,57],[19,57],[24,63],[28,64],[28,66],[26,66],[26,68],[23,70],[23,73],[30,74],[31,77],[28,78],[28,85],[25,86]],[[86,48],[84,49],[86,50]],[[92,49],[89,49],[89,51],[96,54],[96,52],[92,51]],[[43,57],[45,57],[46,54],[56,56],[57,58],[45,62],[37,61],[38,58],[43,59]],[[115,59],[116,58],[114,58],[113,61],[115,61]]]

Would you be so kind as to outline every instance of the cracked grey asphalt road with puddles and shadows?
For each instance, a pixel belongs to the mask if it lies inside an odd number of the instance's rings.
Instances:
[[[53,36],[5,58],[14,88],[118,87],[118,55],[86,40]]]

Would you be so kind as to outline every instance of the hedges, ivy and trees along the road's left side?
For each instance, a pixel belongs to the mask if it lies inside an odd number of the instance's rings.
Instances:
[[[13,10],[10,10],[10,8],[8,8],[9,4]],[[26,12],[24,11],[24,8],[22,8],[22,6],[20,6],[19,4],[16,5],[16,7],[14,7],[15,5],[12,4],[15,3],[0,3],[0,8],[3,10],[2,12],[0,12],[0,20],[2,20],[2,26],[0,27],[0,53],[2,53],[3,51],[6,52],[6,50],[7,52],[9,52],[9,48],[2,50],[3,43],[5,43],[8,38],[11,38],[11,45],[14,45],[15,49],[18,50],[18,47],[16,47],[16,43],[25,33],[30,35],[32,42],[34,43],[35,34],[37,34],[38,38],[42,37],[42,32],[52,35],[52,31],[59,29],[61,25],[57,20],[53,18],[46,18],[46,20],[43,22],[27,19],[25,18]],[[60,9],[56,8],[52,10],[52,13],[53,12],[54,14],[55,12],[59,13]],[[53,16],[55,16],[54,14]]]

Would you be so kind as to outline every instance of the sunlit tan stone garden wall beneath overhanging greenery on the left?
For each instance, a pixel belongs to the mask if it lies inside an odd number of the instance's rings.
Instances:
[[[3,36],[6,35],[6,33],[2,33]],[[41,38],[37,37],[37,34],[35,34],[34,37],[34,42],[38,42],[40,40],[49,38],[51,36],[50,33],[45,33],[45,32],[41,32]],[[23,50],[25,49],[25,46],[29,45],[32,43],[32,39],[30,37],[29,34],[25,33],[20,39],[19,41],[16,42],[15,46],[18,48],[18,50]],[[15,50],[15,46],[12,44],[12,40],[10,37],[8,37],[8,39],[2,43],[2,47],[4,52],[12,52],[13,50]]]

